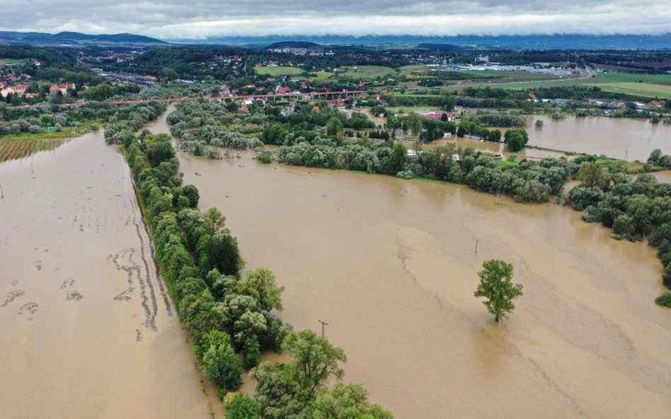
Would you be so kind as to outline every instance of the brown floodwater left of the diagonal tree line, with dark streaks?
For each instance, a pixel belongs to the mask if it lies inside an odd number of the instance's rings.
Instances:
[[[0,184],[0,418],[221,415],[103,132],[0,164]]]

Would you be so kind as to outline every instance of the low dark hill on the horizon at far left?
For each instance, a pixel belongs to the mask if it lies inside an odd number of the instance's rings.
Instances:
[[[0,44],[33,45],[40,47],[88,47],[88,46],[167,46],[168,42],[132,33],[115,35],[87,35],[78,32],[60,32],[55,34],[38,32],[0,32]]]

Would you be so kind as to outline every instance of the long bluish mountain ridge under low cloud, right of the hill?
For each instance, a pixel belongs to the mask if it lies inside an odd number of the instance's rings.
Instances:
[[[226,36],[205,40],[168,39],[192,45],[246,45],[266,47],[284,42],[314,42],[319,45],[451,45],[461,49],[671,49],[671,33],[663,35],[268,35],[260,37]]]

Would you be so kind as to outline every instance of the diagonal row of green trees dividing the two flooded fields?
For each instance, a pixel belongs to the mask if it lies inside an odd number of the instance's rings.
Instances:
[[[240,386],[243,369],[251,369],[258,382],[253,398],[226,396],[226,418],[393,419],[368,402],[361,384],[329,389],[343,378],[345,353],[314,331],[292,331],[273,314],[283,308],[284,290],[273,272],[258,268],[240,277],[244,262],[237,241],[222,213],[199,211],[197,189],[182,186],[171,137],[143,131],[125,150],[156,255],[205,377],[222,396]],[[292,360],[259,365],[265,350],[285,350]]]

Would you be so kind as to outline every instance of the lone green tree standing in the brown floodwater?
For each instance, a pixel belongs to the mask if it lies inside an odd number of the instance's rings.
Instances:
[[[482,267],[478,272],[480,283],[473,295],[487,299],[483,304],[496,321],[507,319],[507,313],[515,309],[512,300],[522,295],[522,284],[512,283],[512,264],[505,261],[490,259],[483,262]]]

